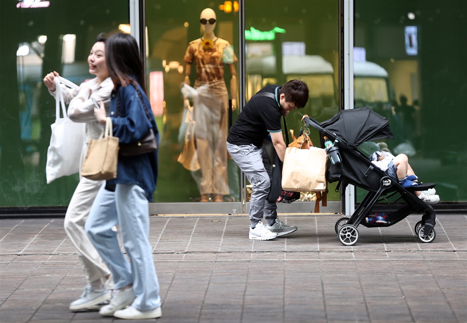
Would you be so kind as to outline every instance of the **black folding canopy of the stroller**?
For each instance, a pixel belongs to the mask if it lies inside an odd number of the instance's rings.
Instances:
[[[367,107],[340,110],[320,126],[347,144],[348,149],[357,148],[368,140],[394,139],[389,121]]]

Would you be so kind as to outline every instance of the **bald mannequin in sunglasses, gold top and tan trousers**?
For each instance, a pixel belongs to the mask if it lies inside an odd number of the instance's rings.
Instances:
[[[184,56],[184,82],[190,85],[191,65],[195,63],[197,77],[194,88],[199,92],[202,103],[198,109],[196,105],[193,106],[196,150],[202,173],[199,183],[201,202],[208,202],[210,194],[214,196],[214,202],[222,202],[223,196],[229,194],[226,149],[228,91],[224,82],[224,65],[229,66],[232,110],[235,110],[237,77],[234,63],[237,62],[237,57],[229,42],[214,35],[214,10],[204,9],[199,18],[203,36],[188,45]],[[189,108],[187,96],[184,104]]]

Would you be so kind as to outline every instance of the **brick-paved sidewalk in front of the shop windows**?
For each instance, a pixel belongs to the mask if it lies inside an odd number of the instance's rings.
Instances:
[[[244,216],[151,217],[157,322],[467,322],[465,215],[439,215],[430,244],[412,215],[352,247],[338,218],[282,216],[298,231],[253,241]],[[118,321],[68,310],[85,280],[63,219],[0,220],[0,280],[0,322]]]

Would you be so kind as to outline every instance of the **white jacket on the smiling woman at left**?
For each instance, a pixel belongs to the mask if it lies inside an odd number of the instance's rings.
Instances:
[[[113,90],[113,82],[110,77],[107,77],[100,84],[97,83],[97,77],[92,80],[81,83],[78,89],[70,89],[64,84],[60,84],[63,98],[68,105],[68,117],[74,122],[86,123],[86,142],[89,139],[98,139],[104,126],[100,125],[94,116],[94,103],[91,98],[97,102],[104,101],[106,111],[110,108],[110,93]],[[92,93],[89,94],[89,88]],[[54,96],[56,91],[49,91]]]

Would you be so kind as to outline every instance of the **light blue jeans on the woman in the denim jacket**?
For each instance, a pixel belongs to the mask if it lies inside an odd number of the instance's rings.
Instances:
[[[144,190],[135,184],[117,184],[115,192],[105,183],[92,204],[85,231],[113,274],[115,289],[133,283],[136,299],[132,306],[141,311],[161,306],[159,281],[149,244],[149,209]],[[123,246],[130,262],[120,251],[117,232],[120,225]]]

